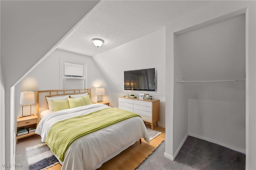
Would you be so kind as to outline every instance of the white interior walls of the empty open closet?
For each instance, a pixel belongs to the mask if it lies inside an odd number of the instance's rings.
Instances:
[[[174,152],[186,135],[245,153],[245,14],[174,35]]]

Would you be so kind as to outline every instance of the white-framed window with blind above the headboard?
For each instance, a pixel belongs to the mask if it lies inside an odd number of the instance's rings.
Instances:
[[[60,89],[86,88],[86,63],[60,61]]]

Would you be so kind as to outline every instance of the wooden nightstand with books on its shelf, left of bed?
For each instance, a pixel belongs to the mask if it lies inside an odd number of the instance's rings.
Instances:
[[[26,128],[26,129],[28,129],[30,127],[37,127],[38,121],[39,121],[39,119],[38,119],[37,115],[31,115],[31,116],[26,116],[26,117],[18,116],[17,117],[17,132],[22,127]],[[35,135],[35,134],[36,134],[35,132],[31,132],[31,133],[17,136],[16,142],[18,142],[18,139],[28,137],[31,135]]]

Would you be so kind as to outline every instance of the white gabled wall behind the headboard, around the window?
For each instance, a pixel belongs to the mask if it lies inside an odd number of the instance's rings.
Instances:
[[[99,84],[102,88],[108,88],[102,74],[95,65],[92,57],[71,53],[56,49],[53,51],[42,63],[40,63],[34,70],[32,70],[21,82],[15,86],[15,113],[22,114],[22,106],[20,105],[21,91],[38,91],[60,89],[60,59],[69,61],[77,61],[86,63],[87,67],[87,87],[91,88],[92,101],[96,102],[95,86]],[[108,100],[108,90],[104,99]],[[32,105],[32,113],[36,113],[36,104]]]

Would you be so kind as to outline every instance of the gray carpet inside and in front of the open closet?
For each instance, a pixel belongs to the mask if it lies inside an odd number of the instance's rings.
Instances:
[[[164,157],[165,141],[138,170],[244,170],[245,154],[188,136],[174,161]]]

